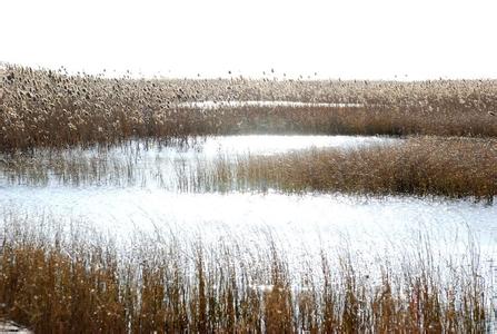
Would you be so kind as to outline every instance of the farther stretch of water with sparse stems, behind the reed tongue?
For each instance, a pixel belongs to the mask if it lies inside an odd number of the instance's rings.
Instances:
[[[360,136],[226,136],[190,138],[163,145],[130,141],[116,147],[38,150],[0,164],[0,186],[138,186],[169,190],[210,189],[199,185],[205,166],[221,157],[226,161],[243,155],[275,155],[306,148],[351,149],[391,145],[400,139]],[[185,185],[186,183],[186,185]]]

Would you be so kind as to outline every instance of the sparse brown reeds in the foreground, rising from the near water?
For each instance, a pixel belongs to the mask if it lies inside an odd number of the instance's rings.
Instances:
[[[324,248],[292,273],[268,237],[249,249],[101,234],[11,215],[0,234],[0,318],[36,333],[484,333],[491,286],[475,248],[434,261],[429,242],[400,267]],[[304,222],[302,222],[304,223]],[[120,244],[120,243],[119,243]],[[122,246],[122,244],[121,244]],[[126,249],[126,250],[123,250]],[[471,250],[473,249],[473,250]]]

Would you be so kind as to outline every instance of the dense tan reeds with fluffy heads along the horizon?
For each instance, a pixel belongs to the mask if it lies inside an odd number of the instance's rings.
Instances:
[[[202,100],[290,100],[355,107],[203,110]],[[106,79],[3,66],[0,150],[247,132],[497,136],[497,81]]]

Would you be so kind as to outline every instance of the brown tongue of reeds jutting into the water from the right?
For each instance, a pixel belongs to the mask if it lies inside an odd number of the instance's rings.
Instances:
[[[496,140],[424,137],[400,145],[239,157],[210,174],[213,184],[230,189],[435,195],[493,203],[496,166]]]

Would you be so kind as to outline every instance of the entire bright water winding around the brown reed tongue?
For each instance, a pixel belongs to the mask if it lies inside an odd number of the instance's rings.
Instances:
[[[129,143],[112,149],[39,153],[19,170],[0,173],[0,215],[81,222],[127,237],[139,230],[186,238],[219,237],[257,245],[270,235],[289,257],[349,245],[365,254],[416,249],[419,239],[450,256],[476,248],[497,254],[497,206],[440,198],[179,191],[181,173],[219,156],[274,155],[310,147],[352,149],[401,145],[399,139],[344,136],[232,136],[187,145]],[[96,176],[97,175],[97,176]],[[160,177],[158,177],[158,175]],[[158,181],[160,179],[160,183]],[[166,185],[166,186],[165,186]],[[1,222],[1,220],[0,220]],[[395,250],[394,250],[395,252]]]

